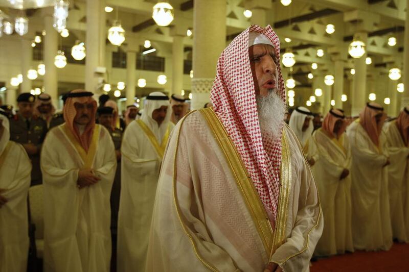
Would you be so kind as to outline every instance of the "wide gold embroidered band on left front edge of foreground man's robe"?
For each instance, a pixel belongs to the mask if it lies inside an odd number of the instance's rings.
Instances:
[[[270,220],[268,219],[268,215],[264,209],[264,205],[261,202],[256,187],[249,177],[247,169],[241,161],[236,147],[229,138],[228,133],[225,131],[213,109],[206,108],[199,111],[203,116],[205,116],[208,125],[225,156],[226,161],[229,163],[237,186],[240,189],[244,202],[246,203],[246,206],[253,217],[253,221],[268,255],[268,253],[271,252],[273,232]]]

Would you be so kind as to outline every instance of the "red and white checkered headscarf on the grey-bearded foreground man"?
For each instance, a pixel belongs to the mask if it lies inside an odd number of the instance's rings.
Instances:
[[[211,102],[234,142],[270,220],[275,220],[280,191],[281,137],[274,141],[262,139],[261,136],[248,55],[249,32],[262,33],[268,37],[274,44],[277,59],[280,59],[280,41],[271,27],[267,26],[265,29],[255,25],[249,27],[221,53],[211,91]],[[277,65],[277,73],[277,94],[285,103],[285,87],[280,65]],[[282,130],[283,127],[280,128],[280,136]]]

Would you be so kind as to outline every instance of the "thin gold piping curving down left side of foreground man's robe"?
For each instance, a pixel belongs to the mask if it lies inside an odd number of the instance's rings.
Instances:
[[[203,259],[203,257],[200,255],[199,251],[197,250],[197,245],[195,240],[192,237],[192,234],[189,232],[188,228],[186,227],[186,225],[184,224],[183,218],[182,218],[182,212],[180,211],[180,207],[179,204],[177,202],[177,190],[176,190],[176,177],[177,177],[177,149],[179,146],[179,136],[180,136],[180,131],[181,128],[183,126],[183,123],[186,119],[186,117],[188,117],[190,114],[192,114],[193,112],[196,111],[191,111],[188,114],[186,114],[183,119],[181,119],[180,122],[180,127],[179,127],[179,131],[177,132],[177,137],[176,137],[176,150],[175,150],[175,156],[173,159],[173,202],[176,208],[176,213],[177,213],[177,217],[179,218],[180,221],[180,225],[182,226],[184,232],[186,233],[186,235],[188,236],[190,242],[193,245],[193,250],[195,252],[196,257],[200,260],[200,262],[205,265],[207,268],[209,268],[212,271],[217,272],[217,269],[215,267],[213,267],[210,263],[208,263],[207,261],[205,261],[205,259]]]

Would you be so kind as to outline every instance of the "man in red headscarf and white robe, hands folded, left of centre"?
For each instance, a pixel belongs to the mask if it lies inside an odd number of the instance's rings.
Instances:
[[[42,146],[46,272],[109,271],[109,198],[117,159],[109,132],[95,123],[92,95],[67,95],[65,123]]]

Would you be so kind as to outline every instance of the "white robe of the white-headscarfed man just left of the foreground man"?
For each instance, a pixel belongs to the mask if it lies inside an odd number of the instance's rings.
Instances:
[[[163,126],[169,126],[169,131],[174,127],[170,122]],[[163,133],[157,125],[149,128],[161,145]],[[162,157],[138,121],[132,121],[126,128],[121,154],[117,267],[119,272],[143,271]]]

